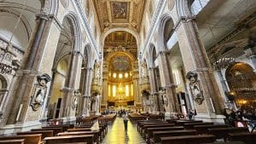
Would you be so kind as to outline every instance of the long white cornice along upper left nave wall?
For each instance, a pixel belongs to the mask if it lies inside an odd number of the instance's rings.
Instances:
[[[91,46],[96,52],[97,59],[100,60],[99,51],[98,51],[98,49],[96,49],[97,48],[96,41],[95,41],[96,38],[93,36],[93,33],[90,29],[90,25],[88,24],[86,15],[83,13],[84,9],[82,8],[81,2],[74,0],[73,3],[75,5],[75,9],[77,9],[78,14],[80,14],[80,16],[82,18],[82,24],[84,24],[85,32],[87,32],[87,34],[88,34]]]

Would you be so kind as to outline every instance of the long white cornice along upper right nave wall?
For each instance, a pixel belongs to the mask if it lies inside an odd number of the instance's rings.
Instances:
[[[160,20],[160,15],[164,10],[165,3],[166,3],[166,0],[160,0],[159,3],[157,4],[156,11],[154,12],[153,18],[150,22],[151,25],[150,25],[150,28],[149,28],[149,31],[148,31],[148,37],[146,38],[146,41],[145,41],[145,44],[144,44],[143,56],[141,57],[142,59],[143,59],[144,55],[146,55],[146,51],[147,51],[149,42],[150,42],[150,40],[151,40],[151,38],[154,34],[154,30],[157,26],[156,24]]]

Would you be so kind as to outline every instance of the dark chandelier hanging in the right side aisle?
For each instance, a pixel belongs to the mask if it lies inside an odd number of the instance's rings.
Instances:
[[[221,58],[219,60],[217,60],[216,62],[213,63],[213,66],[215,67],[215,69],[224,69],[227,68],[228,66],[231,66],[233,64],[236,63],[235,58],[231,57],[231,58]]]

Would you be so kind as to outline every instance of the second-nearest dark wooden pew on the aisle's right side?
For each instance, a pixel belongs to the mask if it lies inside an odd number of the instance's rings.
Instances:
[[[168,130],[168,131],[153,131],[153,141],[160,142],[160,137],[168,136],[183,136],[183,135],[196,135],[196,130]]]

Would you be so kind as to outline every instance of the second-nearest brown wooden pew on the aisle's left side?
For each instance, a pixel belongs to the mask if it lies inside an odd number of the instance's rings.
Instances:
[[[78,131],[78,132],[63,132],[59,133],[59,136],[67,135],[94,135],[93,142],[100,143],[101,137],[98,131]]]

